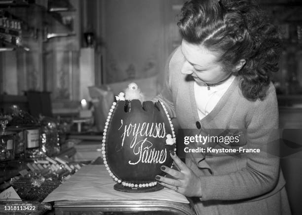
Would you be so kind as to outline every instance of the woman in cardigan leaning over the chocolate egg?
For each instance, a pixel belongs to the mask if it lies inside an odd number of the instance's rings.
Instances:
[[[162,166],[172,178],[155,179],[195,197],[198,214],[290,214],[279,159],[265,151],[278,147],[270,142],[278,128],[276,93],[269,79],[278,70],[276,28],[252,0],[190,0],[178,25],[183,41],[168,60],[168,78],[157,99],[181,128],[245,129],[240,146],[260,152],[187,153],[186,164],[171,152],[177,170]]]

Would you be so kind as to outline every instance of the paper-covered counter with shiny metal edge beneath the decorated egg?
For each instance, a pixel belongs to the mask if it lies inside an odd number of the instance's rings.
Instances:
[[[189,200],[168,188],[127,193],[114,184],[104,165],[86,165],[43,202],[54,202],[56,215],[195,215]]]

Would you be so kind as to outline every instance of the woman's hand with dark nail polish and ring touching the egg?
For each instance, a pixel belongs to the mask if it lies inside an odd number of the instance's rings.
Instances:
[[[185,196],[192,197],[198,196],[201,197],[201,181],[193,173],[193,171],[175,154],[175,152],[170,151],[170,155],[174,160],[174,165],[179,169],[179,171],[171,169],[166,166],[162,166],[161,170],[174,179],[156,176],[155,179],[158,180],[158,183],[168,187],[178,193],[184,194]]]

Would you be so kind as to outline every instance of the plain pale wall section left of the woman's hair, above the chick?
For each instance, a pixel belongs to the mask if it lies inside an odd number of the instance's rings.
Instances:
[[[182,0],[104,0],[103,51],[106,83],[159,74],[177,28],[173,5]],[[179,9],[179,7],[177,8]],[[178,32],[176,32],[176,36]]]

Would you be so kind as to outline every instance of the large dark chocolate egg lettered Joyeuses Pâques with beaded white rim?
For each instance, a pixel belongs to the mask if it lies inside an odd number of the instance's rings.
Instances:
[[[171,167],[175,133],[162,103],[139,100],[113,103],[102,140],[104,164],[119,191],[151,191],[162,165]],[[168,140],[167,140],[168,139]]]

